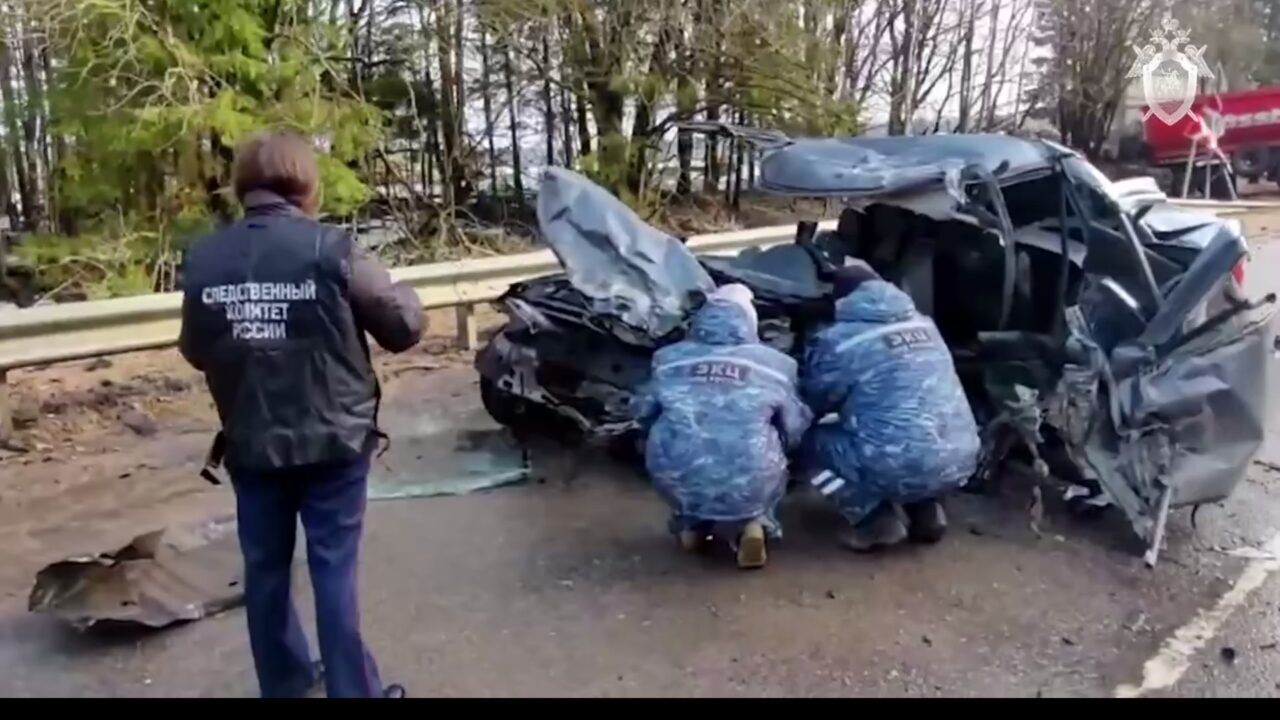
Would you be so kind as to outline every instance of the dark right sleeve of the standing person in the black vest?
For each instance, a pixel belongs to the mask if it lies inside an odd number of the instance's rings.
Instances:
[[[348,281],[356,322],[384,350],[403,352],[422,340],[426,318],[417,292],[393,283],[387,268],[360,247],[352,250]]]

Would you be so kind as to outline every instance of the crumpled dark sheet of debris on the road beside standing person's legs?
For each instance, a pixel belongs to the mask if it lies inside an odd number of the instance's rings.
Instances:
[[[36,574],[27,609],[79,630],[102,623],[164,628],[237,607],[243,596],[236,520],[223,518],[54,562]]]

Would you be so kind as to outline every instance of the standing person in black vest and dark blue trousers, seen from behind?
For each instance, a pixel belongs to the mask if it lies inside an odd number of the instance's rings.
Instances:
[[[183,356],[205,374],[236,489],[244,605],[264,697],[403,697],[383,688],[360,634],[356,556],[379,386],[367,332],[401,352],[422,334],[412,288],[393,284],[347,232],[315,215],[311,142],[266,132],[233,168],[244,218],[188,252]],[[216,448],[223,448],[219,452]],[[323,664],[289,597],[297,519],[306,530]]]

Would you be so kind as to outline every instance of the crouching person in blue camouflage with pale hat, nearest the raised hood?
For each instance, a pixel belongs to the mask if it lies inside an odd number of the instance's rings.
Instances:
[[[653,360],[637,419],[645,465],[671,505],[681,546],[727,539],[740,568],[762,568],[773,510],[786,492],[787,452],[809,427],[796,363],[760,345],[751,291],[726,286],[694,316],[687,340]]]

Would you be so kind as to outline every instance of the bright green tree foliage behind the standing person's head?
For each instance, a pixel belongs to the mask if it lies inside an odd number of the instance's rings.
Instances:
[[[383,110],[328,64],[347,36],[311,3],[31,6],[61,58],[47,78],[51,129],[74,138],[59,156],[54,200],[76,218],[76,234],[22,246],[46,291],[127,295],[172,283],[177,252],[225,206],[232,149],[262,128],[325,147],[323,211],[348,214],[372,196],[355,168],[383,140]]]

